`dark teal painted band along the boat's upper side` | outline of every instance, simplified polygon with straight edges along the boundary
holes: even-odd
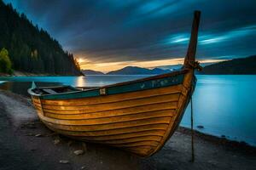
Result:
[[[131,82],[124,85],[112,86],[105,88],[106,95],[110,94],[125,94],[129,92],[136,92],[142,90],[148,90],[153,88],[164,88],[168,86],[174,86],[177,84],[183,83],[184,75],[180,74],[172,77],[164,77],[159,79],[147,80],[143,82]],[[87,90],[87,91],[79,91],[65,94],[48,94],[40,96],[40,99],[79,99],[79,98],[87,98],[87,97],[96,97],[100,96],[100,88]]]

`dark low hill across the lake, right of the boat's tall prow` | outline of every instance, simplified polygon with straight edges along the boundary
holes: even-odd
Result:
[[[231,59],[228,61],[219,62],[213,65],[207,65],[203,68],[199,74],[209,74],[209,75],[253,75],[256,74],[256,55]]]

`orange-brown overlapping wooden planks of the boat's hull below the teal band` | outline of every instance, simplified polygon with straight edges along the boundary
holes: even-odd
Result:
[[[151,156],[171,137],[183,116],[193,73],[182,77],[177,84],[124,94],[78,99],[32,96],[32,101],[39,118],[56,133]]]

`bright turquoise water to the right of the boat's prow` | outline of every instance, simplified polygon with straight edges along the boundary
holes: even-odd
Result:
[[[256,145],[256,76],[199,76],[195,89],[195,126]],[[190,126],[190,108],[182,125]]]

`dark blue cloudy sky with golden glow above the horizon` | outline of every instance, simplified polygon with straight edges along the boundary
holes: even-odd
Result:
[[[256,0],[4,2],[49,31],[84,68],[107,71],[125,65],[180,63],[195,9],[202,12],[197,59],[207,62],[256,54]]]

